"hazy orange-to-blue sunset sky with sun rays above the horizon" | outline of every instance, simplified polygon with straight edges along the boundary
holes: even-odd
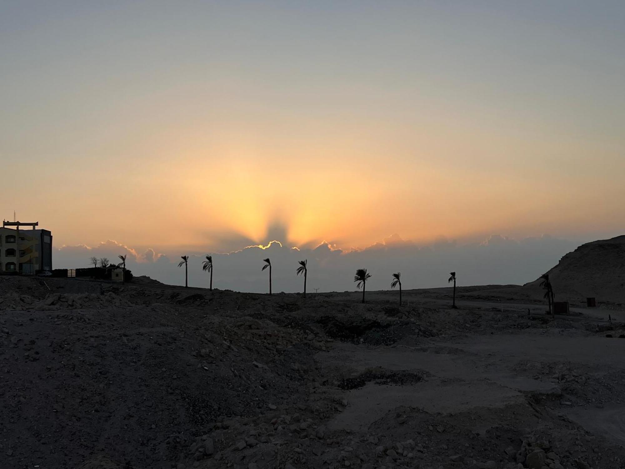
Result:
[[[249,256],[237,290],[294,247],[332,290],[446,245],[467,281],[530,281],[625,231],[623,51],[621,1],[0,0],[0,216],[59,267]]]

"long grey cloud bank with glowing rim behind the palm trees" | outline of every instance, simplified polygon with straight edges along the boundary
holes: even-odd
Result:
[[[277,240],[276,240],[277,241]],[[231,253],[204,253],[186,250],[190,256],[189,286],[208,285],[209,276],[201,270],[206,254],[212,254],[214,288],[264,293],[269,288],[268,272],[261,271],[262,259],[272,263],[274,292],[301,291],[303,278],[295,274],[297,261],[308,260],[308,291],[356,290],[353,282],[357,268],[372,274],[367,290],[388,290],[391,274],[402,273],[404,289],[447,286],[449,271],[456,271],[458,285],[522,284],[556,265],[567,252],[579,245],[576,241],[551,236],[513,240],[492,235],[481,243],[459,244],[453,240],[438,240],[429,245],[417,245],[399,235],[359,250],[341,250],[336,245],[297,248],[284,242],[247,246]],[[89,266],[91,256],[108,257],[117,261],[118,255],[128,255],[126,265],[134,275],[148,275],[163,283],[184,285],[184,270],[178,268],[179,255],[159,253],[152,248],[135,250],[108,240],[97,246],[61,246],[54,251],[55,268]]]

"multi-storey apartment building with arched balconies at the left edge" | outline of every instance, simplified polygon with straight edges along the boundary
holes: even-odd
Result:
[[[52,270],[52,233],[47,229],[37,229],[37,226],[37,221],[2,221],[0,273],[34,275],[39,271]]]

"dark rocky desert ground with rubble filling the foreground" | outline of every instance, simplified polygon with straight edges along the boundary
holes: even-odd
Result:
[[[0,277],[0,468],[625,467],[625,306]]]

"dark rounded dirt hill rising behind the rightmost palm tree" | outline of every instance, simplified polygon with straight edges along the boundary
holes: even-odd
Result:
[[[625,303],[625,235],[581,245],[547,273],[556,301],[579,304],[595,297],[597,301]],[[522,290],[542,296],[540,281],[527,283]]]

